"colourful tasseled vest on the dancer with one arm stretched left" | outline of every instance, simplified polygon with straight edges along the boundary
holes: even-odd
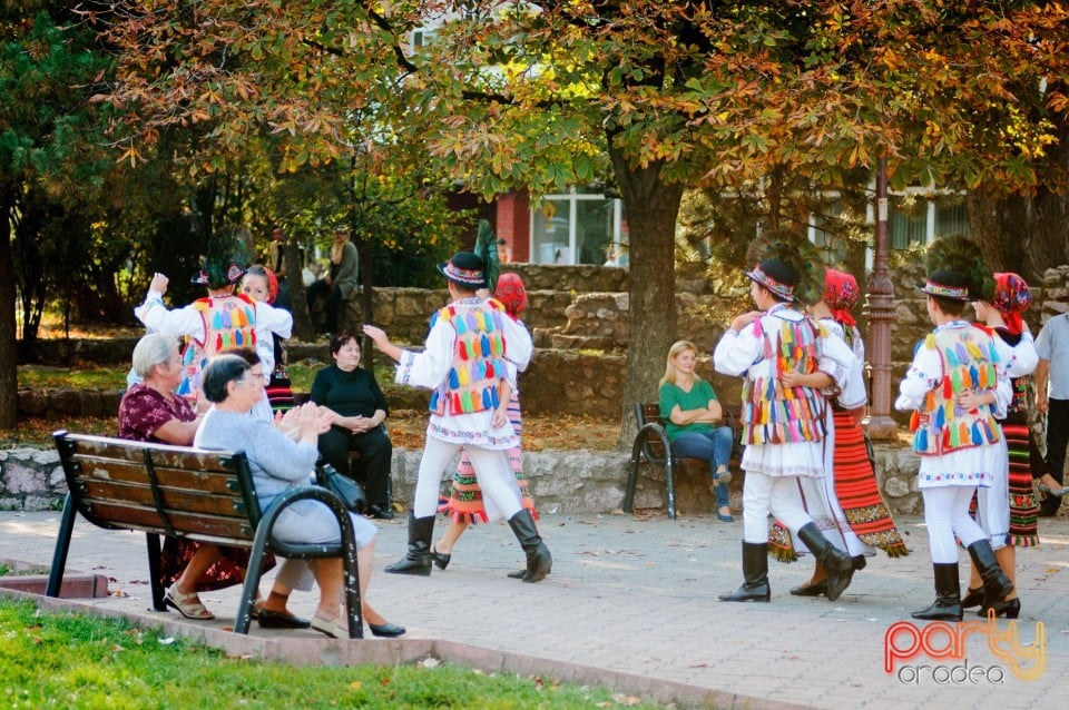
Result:
[[[506,376],[504,306],[486,303],[450,304],[435,314],[457,332],[449,377],[431,395],[430,411],[439,415],[472,414],[500,403],[498,383]],[[432,323],[433,327],[433,323]]]

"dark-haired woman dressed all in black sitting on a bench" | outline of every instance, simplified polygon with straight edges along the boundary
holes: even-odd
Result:
[[[334,413],[331,430],[320,435],[320,453],[326,463],[360,481],[367,495],[367,516],[393,519],[390,458],[393,444],[382,426],[386,398],[374,375],[359,367],[360,342],[349,332],[331,338],[334,364],[315,374],[312,402]],[[349,452],[360,453],[357,475],[350,466]]]

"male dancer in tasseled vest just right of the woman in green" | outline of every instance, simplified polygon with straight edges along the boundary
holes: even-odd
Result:
[[[824,269],[813,264],[794,266],[800,254],[797,243],[779,246],[756,243],[751,254],[766,258],[756,263],[746,276],[778,303],[739,332],[728,331],[713,353],[716,372],[745,377],[743,384],[743,453],[746,472],[743,484],[743,585],[722,601],[768,601],[768,531],[771,512],[814,552],[828,571],[828,598],[834,601],[850,584],[853,574],[849,555],[837,550],[821,533],[806,513],[798,495],[800,477],[824,475],[822,441],[824,407],[821,393],[811,387],[784,387],[786,372],[812,374],[817,369],[842,381],[852,365],[853,354],[840,342],[838,353],[825,352],[821,328],[788,307],[795,299],[800,275]],[[775,254],[776,256],[771,256]],[[804,278],[804,276],[803,276]],[[808,290],[808,289],[807,289]],[[823,289],[822,289],[823,290]],[[764,303],[764,294],[757,293]],[[755,296],[756,298],[757,296]]]

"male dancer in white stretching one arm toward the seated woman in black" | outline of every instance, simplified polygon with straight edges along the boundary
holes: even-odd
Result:
[[[475,292],[486,285],[484,268],[483,260],[470,252],[459,252],[438,267],[447,279],[451,302],[431,318],[431,332],[421,353],[401,349],[381,328],[364,326],[379,349],[398,362],[395,382],[433,391],[415,501],[409,515],[408,554],[386,566],[386,572],[431,573],[431,538],[442,473],[462,447],[468,451],[483,497],[509,521],[523,548],[523,581],[541,581],[553,564],[530,511],[509,484],[514,476],[506,456],[508,450],[520,445],[509,423],[508,404],[516,387],[514,367],[522,369],[530,361],[531,337],[527,328],[508,317],[499,300],[478,296]]]

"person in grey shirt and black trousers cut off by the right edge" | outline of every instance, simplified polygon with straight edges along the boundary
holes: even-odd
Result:
[[[1060,486],[1065,481],[1066,446],[1069,445],[1069,313],[1043,324],[1036,339],[1036,352],[1039,354],[1036,410],[1047,415],[1046,467]],[[1045,517],[1056,515],[1063,492],[1065,489],[1045,492],[1047,497],[1039,506],[1039,514]]]

